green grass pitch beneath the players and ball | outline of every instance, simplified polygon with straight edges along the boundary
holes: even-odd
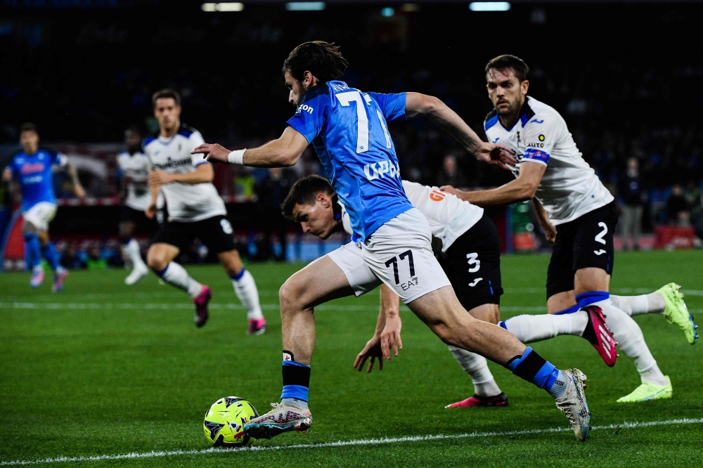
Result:
[[[503,318],[539,313],[547,263],[543,255],[503,257]],[[701,265],[700,251],[618,254],[611,290],[650,292],[678,282],[703,323]],[[544,431],[568,427],[546,392],[493,363],[491,370],[510,398],[508,408],[445,410],[447,403],[470,396],[470,379],[407,310],[401,313],[401,356],[386,362],[382,372],[352,369],[373,333],[377,292],[316,311],[314,424],[308,434],[255,444],[271,450],[207,451],[202,417],[217,398],[241,396],[266,412],[280,396],[278,287],[300,265],[248,268],[269,320],[269,332],[259,337],[245,336],[245,312],[219,266],[188,267],[214,290],[211,318],[201,330],[193,326],[188,297],[159,285],[154,275],[127,287],[127,271],[75,271],[65,290],[52,294],[49,277],[31,290],[28,273],[0,274],[0,466],[53,457],[87,457],[55,463],[66,467],[703,464],[703,343],[690,346],[661,316],[636,321],[671,376],[670,400],[615,403],[638,385],[634,365],[621,356],[607,368],[583,339],[559,337],[533,345],[557,367],[576,366],[589,377],[592,424],[601,429],[578,443],[570,431]],[[396,440],[412,436],[447,437]],[[380,438],[394,440],[380,443]],[[337,441],[370,443],[329,445]],[[300,445],[305,447],[281,448]],[[176,454],[143,455],[153,451]],[[127,453],[139,456],[89,458]]]

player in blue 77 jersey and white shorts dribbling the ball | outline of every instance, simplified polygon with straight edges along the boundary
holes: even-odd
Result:
[[[466,313],[432,254],[427,219],[405,195],[386,122],[427,115],[480,160],[503,164],[512,158],[501,147],[480,141],[439,99],[418,93],[362,93],[342,81],[346,68],[347,61],[332,44],[297,46],[283,64],[289,101],[296,107],[283,135],[255,149],[230,152],[221,145],[200,145],[193,152],[206,154],[208,160],[285,167],[295,164],[312,143],[349,213],[352,240],[366,269],[359,278],[381,280],[446,344],[501,363],[548,391],[567,414],[576,438],[585,441],[591,417],[583,394],[586,377],[575,369],[557,370],[509,332]],[[247,423],[247,434],[271,438],[310,427],[314,306],[351,296],[359,286],[349,282],[330,256],[323,256],[280,288],[283,393],[280,403],[272,403],[273,410]]]

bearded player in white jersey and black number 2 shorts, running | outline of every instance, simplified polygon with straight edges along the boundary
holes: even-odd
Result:
[[[683,295],[673,283],[647,296],[609,294],[617,223],[614,197],[583,160],[562,116],[527,96],[528,70],[520,58],[508,55],[486,65],[486,87],[494,110],[486,117],[484,129],[489,141],[515,151],[518,164],[510,168],[515,181],[493,190],[465,193],[451,186],[442,190],[479,206],[533,200],[547,239],[554,243],[547,271],[548,312],[571,314],[586,306],[600,307],[620,349],[635,361],[642,379],[637,389],[618,402],[671,398],[671,380],[659,370],[630,315],[662,313],[681,327],[693,344],[695,326]],[[583,320],[579,324],[587,326]],[[552,337],[558,331],[526,329],[520,317],[502,325],[534,340]]]

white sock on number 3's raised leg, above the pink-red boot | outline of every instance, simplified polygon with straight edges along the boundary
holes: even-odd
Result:
[[[575,334],[579,337],[588,325],[588,313],[577,311],[555,316],[550,313],[541,316],[517,316],[505,320],[505,329],[523,343],[539,342],[557,337],[560,334]]]

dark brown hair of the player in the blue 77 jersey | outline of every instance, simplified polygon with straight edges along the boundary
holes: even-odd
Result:
[[[281,72],[302,81],[303,73],[311,72],[321,83],[344,80],[344,72],[349,63],[342,57],[335,43],[325,41],[304,42],[294,48],[283,61]]]

